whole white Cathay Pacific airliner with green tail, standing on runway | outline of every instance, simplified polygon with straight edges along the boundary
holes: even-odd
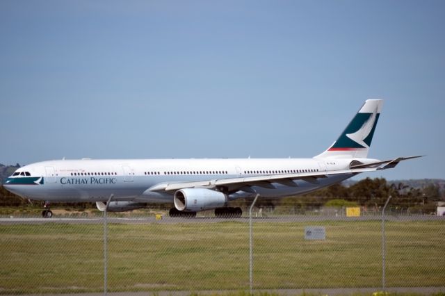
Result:
[[[147,203],[171,203],[171,217],[241,217],[236,199],[301,195],[363,172],[396,167],[401,161],[368,158],[383,101],[368,99],[339,138],[313,158],[116,159],[43,161],[25,165],[3,186],[25,199],[95,202],[99,211],[131,211]]]

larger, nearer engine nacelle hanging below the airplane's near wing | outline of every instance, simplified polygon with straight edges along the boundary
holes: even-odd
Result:
[[[185,188],[175,192],[174,202],[179,211],[205,211],[226,206],[227,195],[205,188]]]

